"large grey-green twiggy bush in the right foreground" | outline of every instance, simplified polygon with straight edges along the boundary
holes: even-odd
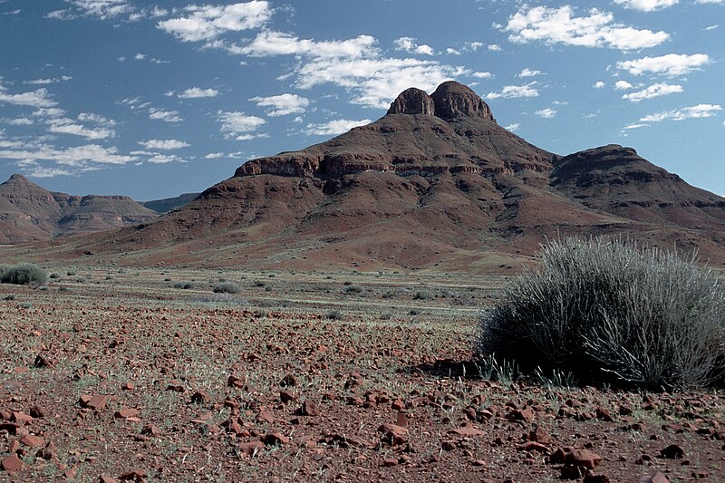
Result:
[[[633,241],[549,242],[480,321],[478,357],[582,383],[704,387],[725,365],[725,291],[676,253]]]

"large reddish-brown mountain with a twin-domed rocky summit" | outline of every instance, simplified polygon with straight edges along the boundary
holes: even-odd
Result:
[[[67,256],[326,269],[495,270],[546,237],[623,235],[725,262],[725,199],[629,148],[559,156],[500,127],[458,82],[411,88],[369,125],[253,159],[158,220]],[[57,249],[53,248],[53,249]]]

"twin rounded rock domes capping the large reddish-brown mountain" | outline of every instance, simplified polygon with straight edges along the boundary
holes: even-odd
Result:
[[[476,92],[454,81],[443,82],[431,95],[415,87],[406,89],[392,101],[388,114],[427,114],[445,121],[457,116],[496,121]]]

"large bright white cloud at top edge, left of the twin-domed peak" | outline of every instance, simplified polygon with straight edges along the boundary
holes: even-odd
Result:
[[[182,42],[212,41],[227,32],[259,28],[272,16],[269,2],[258,0],[231,5],[189,5],[184,10],[188,16],[157,24]]]

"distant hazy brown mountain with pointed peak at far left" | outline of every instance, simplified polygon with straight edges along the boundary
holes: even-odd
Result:
[[[19,174],[0,184],[3,244],[126,227],[158,216],[128,197],[53,193]]]

